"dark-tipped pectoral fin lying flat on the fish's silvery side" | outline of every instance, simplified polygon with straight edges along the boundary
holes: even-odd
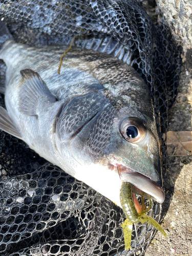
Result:
[[[40,96],[47,97],[47,102],[55,102],[57,99],[37,72],[24,69],[20,74],[23,81],[19,92],[19,111],[28,116],[37,116],[36,105]]]

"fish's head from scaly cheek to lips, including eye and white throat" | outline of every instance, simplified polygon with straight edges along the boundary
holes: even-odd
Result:
[[[133,114],[133,113],[132,113]],[[162,203],[160,144],[153,117],[128,115],[106,104],[70,142],[80,164],[75,177],[120,206],[122,181]]]

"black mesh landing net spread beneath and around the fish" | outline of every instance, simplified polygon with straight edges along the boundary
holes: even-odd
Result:
[[[0,0],[0,18],[18,42],[74,45],[131,63],[151,88],[165,165],[168,110],[177,95],[180,51],[168,28],[141,5],[123,0]],[[1,28],[0,28],[1,29]],[[131,54],[130,54],[131,53]],[[0,62],[0,85],[6,67]],[[0,104],[4,105],[3,95]],[[124,250],[122,209],[0,132],[0,254],[14,256],[141,255],[154,228],[134,225]],[[165,169],[165,168],[164,168]],[[149,215],[160,219],[153,202]]]

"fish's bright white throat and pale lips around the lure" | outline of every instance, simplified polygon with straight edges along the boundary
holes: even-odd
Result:
[[[108,162],[108,165],[103,164],[89,164],[79,165],[75,178],[83,180],[101,195],[113,201],[122,208],[120,203],[120,187],[122,182],[129,182],[133,184],[133,192],[138,195],[143,195],[148,199],[154,199],[159,203],[164,201],[164,192],[160,186],[151,181],[148,177],[141,175],[133,170],[127,168],[127,172],[121,173],[121,168]]]

